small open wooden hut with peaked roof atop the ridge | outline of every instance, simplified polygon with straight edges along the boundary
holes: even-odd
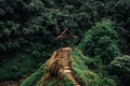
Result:
[[[61,40],[62,41],[62,44],[63,44],[63,40],[66,40],[66,39],[77,39],[77,37],[67,28],[65,29],[64,31],[61,32],[61,34],[56,38],[57,40]],[[72,41],[72,46],[74,45],[74,41]]]

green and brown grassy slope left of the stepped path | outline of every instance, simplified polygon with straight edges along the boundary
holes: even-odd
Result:
[[[58,72],[62,68],[61,58],[55,59],[56,54],[42,64],[34,74],[25,80],[21,86],[74,86],[68,77]]]

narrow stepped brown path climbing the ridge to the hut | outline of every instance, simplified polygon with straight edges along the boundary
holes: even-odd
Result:
[[[70,47],[62,48],[62,56],[63,56],[63,63],[64,63],[64,73],[74,82],[75,86],[81,86],[78,81],[73,75],[72,67],[69,64],[69,55],[70,55]]]

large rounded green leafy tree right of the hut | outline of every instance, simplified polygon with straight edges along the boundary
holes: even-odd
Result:
[[[117,41],[117,32],[110,20],[98,23],[86,32],[84,38],[78,45],[90,57],[100,56],[106,62],[120,55]]]

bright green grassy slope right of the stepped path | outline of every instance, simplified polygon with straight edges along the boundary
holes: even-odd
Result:
[[[102,74],[103,71],[96,73],[88,68],[87,64],[91,64],[94,60],[82,55],[81,51],[75,48],[70,59],[74,75],[81,86],[116,86],[115,80]]]

